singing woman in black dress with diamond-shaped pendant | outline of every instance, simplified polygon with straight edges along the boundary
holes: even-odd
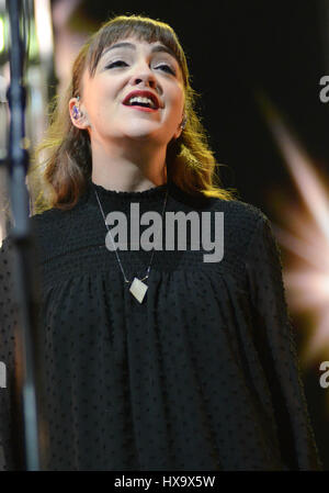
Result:
[[[31,221],[49,470],[321,468],[270,222],[215,181],[194,97],[172,29],[118,16],[80,51],[41,146],[50,195]],[[220,213],[224,256],[204,261],[206,248],[189,238],[183,249],[131,240],[111,250],[117,238],[106,215],[124,213],[136,226],[132,204],[161,220],[212,213],[212,238]],[[7,267],[9,238],[1,255]],[[3,276],[8,301],[9,284]],[[0,310],[0,359],[14,374],[11,304]]]

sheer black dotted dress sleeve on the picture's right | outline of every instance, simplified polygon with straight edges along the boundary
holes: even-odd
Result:
[[[285,299],[281,251],[262,213],[247,250],[256,344],[270,385],[282,458],[290,470],[322,470]]]

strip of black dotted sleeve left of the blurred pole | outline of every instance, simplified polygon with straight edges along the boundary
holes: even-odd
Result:
[[[0,361],[2,371],[3,367],[5,368],[5,381],[3,382],[2,378],[0,386],[0,471],[14,469],[12,400],[14,396],[15,310],[12,253],[12,243],[7,237],[0,248]]]

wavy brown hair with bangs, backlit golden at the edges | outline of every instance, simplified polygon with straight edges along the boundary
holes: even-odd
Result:
[[[152,43],[161,42],[172,49],[180,64],[185,92],[186,125],[178,139],[172,139],[167,147],[168,180],[188,193],[203,193],[223,200],[232,200],[235,189],[223,189],[214,154],[207,142],[206,131],[196,114],[195,101],[200,94],[190,85],[186,58],[182,46],[168,24],[140,15],[118,15],[104,23],[80,49],[72,67],[72,78],[61,101],[56,98],[50,110],[50,123],[46,137],[37,146],[34,165],[29,172],[43,167],[41,189],[34,201],[34,212],[46,209],[71,209],[84,191],[87,180],[91,177],[91,146],[87,130],[72,125],[68,102],[81,90],[81,79],[86,67],[90,76],[94,75],[99,59],[107,46],[131,35]],[[41,159],[42,154],[44,159]],[[33,178],[32,178],[33,180]],[[34,182],[36,184],[37,180]],[[44,190],[48,189],[48,197]]]

